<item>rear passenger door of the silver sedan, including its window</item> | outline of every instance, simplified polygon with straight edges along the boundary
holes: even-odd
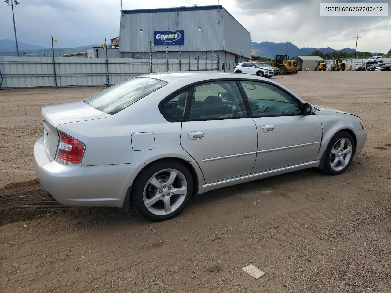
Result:
[[[180,143],[199,164],[206,183],[250,174],[256,158],[256,126],[235,81],[193,87]]]

